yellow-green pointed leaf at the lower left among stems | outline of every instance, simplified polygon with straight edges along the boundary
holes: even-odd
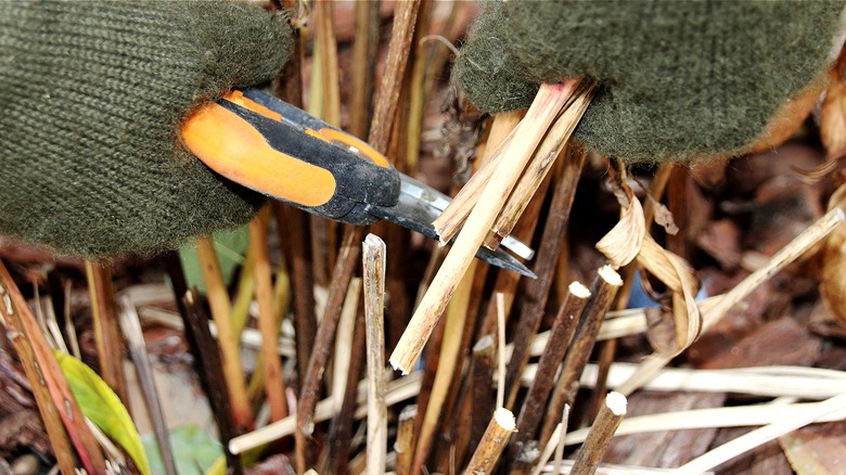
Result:
[[[129,454],[142,475],[150,475],[141,437],[120,398],[86,363],[59,351],[55,356],[82,414]]]

